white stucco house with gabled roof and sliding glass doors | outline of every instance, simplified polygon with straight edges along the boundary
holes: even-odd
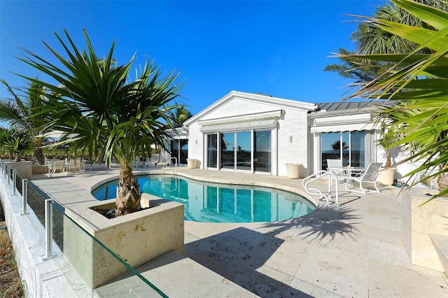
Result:
[[[365,167],[385,162],[367,101],[310,104],[265,94],[232,91],[183,123],[171,155],[200,169],[286,176],[286,164],[302,164],[300,176],[326,169],[326,159]],[[399,155],[394,156],[399,159]],[[409,171],[398,169],[397,178]]]

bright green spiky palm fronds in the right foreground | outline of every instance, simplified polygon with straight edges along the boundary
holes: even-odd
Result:
[[[404,54],[344,55],[344,58],[388,62],[391,67],[349,97],[366,99],[393,99],[398,104],[384,107],[377,115],[386,122],[385,136],[395,141],[391,146],[404,146],[409,156],[403,162],[421,162],[421,166],[408,173],[433,171],[438,176],[440,192],[434,197],[448,194],[448,13],[410,0],[391,0],[395,5],[421,20],[425,26],[411,26],[374,17],[361,17],[390,34],[416,43],[414,50]],[[430,53],[421,53],[423,48]],[[400,134],[387,127],[398,128]],[[416,181],[419,183],[421,181]]]

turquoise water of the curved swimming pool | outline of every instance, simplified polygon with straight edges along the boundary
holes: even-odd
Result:
[[[185,220],[195,222],[271,222],[288,220],[316,208],[304,197],[269,187],[205,183],[179,176],[137,176],[140,191],[184,204]],[[92,194],[103,201],[116,198],[118,180]]]

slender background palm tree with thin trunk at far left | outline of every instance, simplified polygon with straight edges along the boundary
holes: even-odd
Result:
[[[37,78],[36,78],[37,80]],[[45,94],[45,87],[35,82],[29,83],[23,96],[14,92],[13,87],[5,80],[0,80],[13,98],[0,101],[0,120],[8,122],[11,129],[27,132],[34,143],[34,158],[38,164],[43,164],[41,138],[38,138],[38,127],[46,119],[45,114],[32,115],[34,108],[40,108]]]

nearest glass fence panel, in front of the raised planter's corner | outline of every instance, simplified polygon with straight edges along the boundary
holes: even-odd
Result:
[[[52,201],[53,240],[64,254],[60,265],[73,288],[99,297],[167,297],[153,283],[71,219]],[[59,244],[61,243],[61,244]],[[83,283],[81,282],[83,281]]]

